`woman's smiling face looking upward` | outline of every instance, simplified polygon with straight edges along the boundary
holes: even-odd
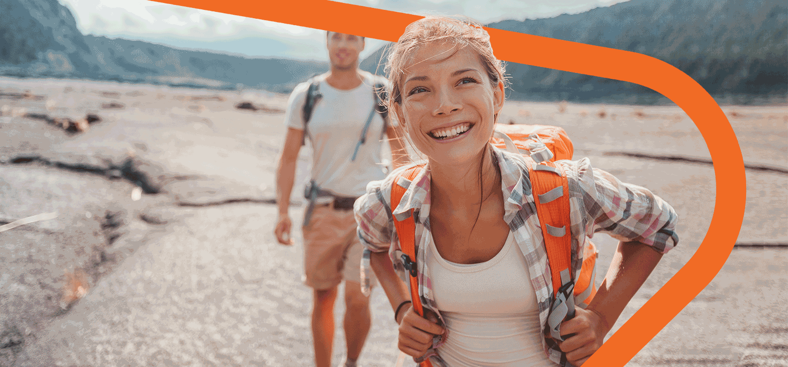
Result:
[[[504,106],[504,83],[492,85],[472,48],[445,43],[419,46],[403,70],[395,109],[416,148],[441,165],[478,160]]]

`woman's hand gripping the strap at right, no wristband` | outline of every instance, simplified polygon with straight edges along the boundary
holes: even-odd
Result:
[[[609,331],[610,327],[600,313],[574,306],[574,318],[561,323],[561,335],[574,335],[558,342],[558,345],[567,354],[567,361],[579,366],[602,347],[604,335]]]

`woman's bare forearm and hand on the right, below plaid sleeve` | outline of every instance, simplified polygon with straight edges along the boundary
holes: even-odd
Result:
[[[575,306],[575,317],[561,324],[561,332],[574,334],[559,342],[568,361],[582,365],[602,346],[605,335],[661,258],[662,254],[642,243],[619,243],[591,304],[585,310]]]

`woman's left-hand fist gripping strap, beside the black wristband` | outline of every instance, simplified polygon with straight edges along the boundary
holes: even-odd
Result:
[[[433,337],[443,334],[444,328],[438,325],[438,317],[430,310],[424,310],[425,317],[418,316],[413,306],[400,312],[400,338],[397,347],[403,353],[419,358],[433,346]]]

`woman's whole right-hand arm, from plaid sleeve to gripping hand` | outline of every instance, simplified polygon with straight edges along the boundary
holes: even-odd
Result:
[[[571,162],[577,174],[578,209],[584,213],[585,233],[604,232],[622,241],[611,261],[604,283],[585,310],[561,324],[563,335],[575,334],[560,343],[567,359],[582,365],[604,341],[626,304],[649,277],[662,254],[678,244],[675,210],[644,187],[623,183],[587,158]],[[571,186],[570,186],[571,187]],[[570,199],[572,200],[572,198]],[[564,328],[566,325],[566,329]]]

